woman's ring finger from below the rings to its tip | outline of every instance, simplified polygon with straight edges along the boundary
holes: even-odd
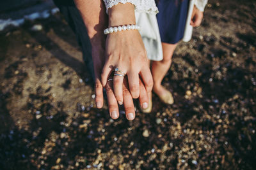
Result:
[[[123,104],[123,81],[124,77],[115,75],[113,78],[113,89],[118,104]]]

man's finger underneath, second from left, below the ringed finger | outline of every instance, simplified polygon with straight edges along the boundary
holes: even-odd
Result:
[[[110,114],[110,117],[113,118],[113,119],[116,119],[119,117],[119,111],[118,111],[118,104],[117,104],[117,101],[116,101],[116,97],[115,97],[115,94],[113,92],[113,85],[112,85],[112,80],[111,81],[108,81],[106,83],[106,94],[107,94],[107,97],[108,97],[108,109],[109,109],[109,114]]]

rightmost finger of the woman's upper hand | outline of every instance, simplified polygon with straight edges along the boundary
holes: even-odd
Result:
[[[152,78],[152,74],[150,72],[149,67],[145,69],[141,69],[140,76],[143,80],[143,83],[147,92],[151,92],[154,83],[153,83],[153,78]]]

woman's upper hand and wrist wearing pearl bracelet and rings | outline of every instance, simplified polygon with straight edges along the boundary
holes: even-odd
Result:
[[[109,9],[109,27],[135,24],[134,6],[117,4]],[[153,80],[148,66],[147,52],[137,30],[120,31],[108,34],[106,39],[106,59],[101,81],[105,86],[109,75],[118,67],[127,74],[129,91],[133,98],[140,96],[140,78],[147,92],[152,90]],[[123,103],[122,84],[124,77],[114,76],[113,92],[119,104]]]

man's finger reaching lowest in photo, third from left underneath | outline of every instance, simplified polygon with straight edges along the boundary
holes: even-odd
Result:
[[[125,115],[128,120],[134,120],[135,118],[134,104],[133,104],[132,96],[128,86],[129,85],[127,82],[127,78],[124,78],[123,94],[124,94]]]

